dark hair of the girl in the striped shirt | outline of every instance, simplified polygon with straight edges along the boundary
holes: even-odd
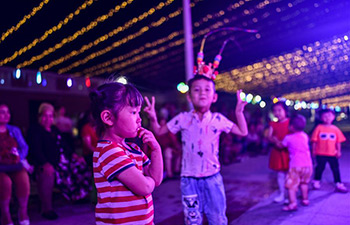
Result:
[[[91,100],[91,112],[96,123],[97,134],[106,130],[101,120],[103,110],[111,110],[115,117],[125,106],[141,106],[143,97],[141,93],[131,84],[106,83],[99,86],[89,94]]]

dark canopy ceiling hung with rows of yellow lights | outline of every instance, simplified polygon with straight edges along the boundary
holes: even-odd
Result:
[[[346,66],[349,62],[344,59],[349,51],[350,1],[192,0],[191,3],[195,54],[204,34],[215,28],[258,30],[257,34],[218,32],[208,38],[204,47],[206,62],[213,61],[226,39],[234,39],[223,52],[218,77],[221,83],[232,82],[232,87],[223,86],[222,90],[242,88],[256,94],[283,95],[350,81]],[[0,65],[43,73],[52,71],[63,76],[120,74],[142,90],[175,89],[179,82],[185,81],[181,7],[181,0],[6,1],[0,8]],[[338,38],[341,43],[336,43]],[[337,49],[327,47],[328,42],[337,45]],[[262,69],[266,70],[269,64],[267,69],[272,70],[274,59],[280,59],[286,68],[288,54],[303,58],[306,53],[314,53],[318,57],[313,50],[321,51],[321,47],[338,57],[326,57],[320,65],[317,64],[320,60],[302,65],[304,71],[297,62],[289,63],[289,67],[295,66],[292,71],[300,69],[295,72],[299,73],[298,79],[289,77],[289,73],[286,76],[276,67],[277,72],[269,71],[276,77],[275,81],[263,85],[268,75]],[[335,69],[329,69],[334,66],[330,60],[339,61],[339,57],[343,58],[337,62],[341,66],[336,64]],[[322,69],[325,63],[328,70]],[[317,66],[321,67],[317,69]],[[312,70],[311,78],[309,70]],[[260,83],[258,73],[262,74]],[[303,76],[309,81],[301,82]]]

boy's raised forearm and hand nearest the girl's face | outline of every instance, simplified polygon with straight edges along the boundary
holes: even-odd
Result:
[[[145,101],[146,101],[146,107],[143,109],[143,111],[147,114],[149,120],[150,120],[150,124],[151,124],[151,130],[157,135],[163,135],[166,134],[167,132],[169,132],[169,129],[167,127],[167,125],[159,125],[158,123],[158,119],[157,119],[157,113],[155,110],[155,98],[154,96],[152,96],[152,102],[149,101],[148,97],[145,97]]]

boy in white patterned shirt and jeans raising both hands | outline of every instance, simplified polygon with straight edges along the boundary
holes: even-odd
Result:
[[[236,125],[222,114],[210,111],[211,104],[217,100],[212,79],[196,75],[188,81],[188,86],[187,97],[194,110],[178,114],[163,126],[157,121],[154,97],[151,102],[145,98],[147,107],[144,111],[157,135],[181,131],[181,192],[185,224],[202,224],[203,213],[209,224],[227,224],[226,197],[218,159],[219,137],[221,132],[247,135],[243,115],[247,103],[240,98],[241,90],[237,91]]]

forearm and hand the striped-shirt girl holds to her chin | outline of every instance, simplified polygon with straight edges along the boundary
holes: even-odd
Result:
[[[151,131],[140,128],[139,137],[150,148],[151,164],[145,167],[145,174],[153,178],[155,186],[159,186],[163,180],[162,149]]]

